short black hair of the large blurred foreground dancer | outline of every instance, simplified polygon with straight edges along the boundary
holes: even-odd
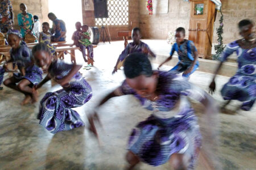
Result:
[[[125,59],[124,64],[126,78],[132,79],[139,75],[147,77],[153,74],[151,63],[148,57],[142,53],[131,53]]]

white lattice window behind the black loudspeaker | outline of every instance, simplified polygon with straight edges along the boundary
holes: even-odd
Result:
[[[109,18],[96,18],[96,25],[128,25],[129,2],[128,0],[108,0]]]

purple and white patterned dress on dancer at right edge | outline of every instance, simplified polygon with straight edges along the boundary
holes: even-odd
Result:
[[[237,73],[222,87],[221,95],[224,100],[242,101],[241,109],[249,111],[256,99],[256,48],[243,49],[237,41],[231,42],[226,45],[220,61],[226,61],[233,52],[238,56]]]

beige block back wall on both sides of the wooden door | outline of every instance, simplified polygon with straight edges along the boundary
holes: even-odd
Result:
[[[139,0],[141,10],[146,10],[146,0]],[[249,18],[256,22],[255,0],[225,0],[222,1],[224,15],[224,43],[240,39],[237,23]],[[169,31],[177,27],[184,27],[188,33],[190,3],[183,0],[169,0],[168,14],[140,15],[139,27],[143,30],[143,37],[148,39],[167,39]],[[143,12],[140,12],[143,14]],[[216,28],[220,14],[217,14],[214,28],[214,42],[217,41]],[[188,36],[188,35],[187,35]]]

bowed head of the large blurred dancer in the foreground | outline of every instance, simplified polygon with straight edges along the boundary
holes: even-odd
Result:
[[[142,97],[150,97],[156,91],[158,73],[152,71],[148,57],[142,53],[132,53],[124,64],[127,84]]]

